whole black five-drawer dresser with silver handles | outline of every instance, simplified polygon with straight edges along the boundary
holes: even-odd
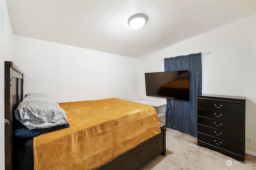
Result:
[[[245,160],[246,97],[197,95],[198,146]]]

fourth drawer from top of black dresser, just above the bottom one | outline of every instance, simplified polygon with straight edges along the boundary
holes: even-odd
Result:
[[[204,125],[198,125],[197,131],[200,133],[208,134],[210,136],[224,139],[236,144],[244,145],[244,136],[241,134],[231,133],[225,130],[207,127]]]

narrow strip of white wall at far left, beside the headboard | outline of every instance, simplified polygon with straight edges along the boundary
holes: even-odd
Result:
[[[4,169],[4,61],[12,60],[13,34],[5,1],[0,1],[0,170]]]

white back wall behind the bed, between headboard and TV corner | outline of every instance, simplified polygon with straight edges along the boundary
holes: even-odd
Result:
[[[139,97],[140,59],[14,36],[14,63],[24,71],[24,94],[59,102]]]

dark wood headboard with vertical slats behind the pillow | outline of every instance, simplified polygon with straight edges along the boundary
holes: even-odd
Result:
[[[13,129],[18,123],[14,117],[14,110],[23,99],[23,75],[24,73],[13,62],[4,61],[5,170],[13,169]]]

